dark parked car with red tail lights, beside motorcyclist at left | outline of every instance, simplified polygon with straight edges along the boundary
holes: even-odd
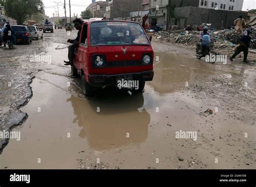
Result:
[[[29,45],[32,42],[32,37],[30,35],[30,31],[27,26],[15,25],[15,26],[11,26],[11,27],[15,31],[17,43],[25,42],[26,44]]]

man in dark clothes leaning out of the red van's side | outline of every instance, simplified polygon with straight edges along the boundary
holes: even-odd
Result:
[[[69,66],[69,65],[73,64],[73,57],[74,57],[75,49],[78,48],[78,42],[79,42],[83,22],[84,21],[80,18],[76,18],[75,20],[73,20],[73,24],[75,25],[76,30],[78,30],[78,33],[77,33],[76,39],[74,39],[74,40],[68,39],[68,43],[70,43],[72,45],[69,46],[69,54],[68,54],[69,61],[64,60],[65,66]]]

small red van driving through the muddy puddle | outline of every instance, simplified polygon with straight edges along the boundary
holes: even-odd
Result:
[[[138,91],[143,91],[145,81],[153,79],[153,58],[150,39],[139,23],[86,20],[71,72],[82,78],[85,96],[120,80],[137,81]]]

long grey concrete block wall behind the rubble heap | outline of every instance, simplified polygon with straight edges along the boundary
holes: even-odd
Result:
[[[187,6],[183,8],[176,8],[174,10],[175,16],[178,19],[178,25],[180,20],[185,19],[185,25],[197,25],[202,23],[211,23],[212,27],[221,29],[221,27],[229,27],[233,25],[235,19],[240,15],[245,19],[247,18],[247,12],[244,11],[224,11],[197,8]]]

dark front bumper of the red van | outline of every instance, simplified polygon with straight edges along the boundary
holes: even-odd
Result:
[[[152,81],[154,77],[154,71],[144,71],[137,73],[125,73],[125,74],[113,74],[113,75],[102,75],[102,74],[89,74],[88,83],[93,87],[102,87],[116,85],[118,78],[132,78],[132,80],[145,80]]]

